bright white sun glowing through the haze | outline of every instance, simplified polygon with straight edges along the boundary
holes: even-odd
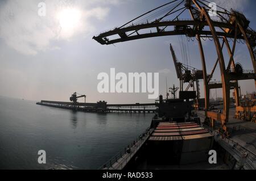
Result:
[[[72,35],[79,27],[81,11],[78,9],[63,9],[57,14],[61,32],[65,35]]]

